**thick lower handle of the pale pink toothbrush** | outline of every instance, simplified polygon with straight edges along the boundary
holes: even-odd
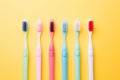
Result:
[[[41,50],[37,49],[36,54],[36,80],[41,80]]]

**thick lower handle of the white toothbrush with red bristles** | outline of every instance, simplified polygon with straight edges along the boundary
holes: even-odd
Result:
[[[92,50],[89,50],[88,52],[88,66],[89,66],[89,80],[93,80],[94,74],[93,74],[93,52]]]

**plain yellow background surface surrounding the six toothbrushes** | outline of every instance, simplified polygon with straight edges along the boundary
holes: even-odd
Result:
[[[91,17],[95,80],[120,80],[120,0],[1,0],[0,1],[0,80],[22,80],[22,20],[28,19],[29,80],[36,79],[36,21],[43,21],[42,80],[49,80],[49,21],[55,20],[55,80],[62,80],[61,21],[68,21],[68,77],[75,80],[73,24],[81,20],[81,80],[88,80],[88,33],[86,22]]]

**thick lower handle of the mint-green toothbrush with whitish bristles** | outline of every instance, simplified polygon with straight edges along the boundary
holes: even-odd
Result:
[[[80,80],[80,51],[75,52],[76,80]]]

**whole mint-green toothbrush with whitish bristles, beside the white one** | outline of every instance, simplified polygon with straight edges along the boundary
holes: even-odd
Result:
[[[80,80],[80,46],[79,46],[79,33],[80,33],[80,21],[75,21],[76,32],[76,46],[75,46],[75,65],[76,65],[76,80]]]

